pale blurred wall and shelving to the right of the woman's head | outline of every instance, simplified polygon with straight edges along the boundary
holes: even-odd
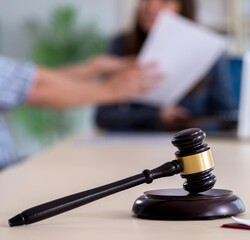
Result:
[[[200,22],[228,35],[231,54],[249,51],[249,0],[197,0],[197,3]]]

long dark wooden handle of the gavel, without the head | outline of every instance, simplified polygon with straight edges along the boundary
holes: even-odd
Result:
[[[55,215],[64,213],[82,205],[88,204],[111,194],[138,186],[142,183],[152,183],[154,179],[172,176],[182,171],[176,160],[167,162],[153,170],[144,170],[142,173],[123,180],[59,198],[32,208],[16,215],[9,220],[9,225],[20,226],[35,223]]]

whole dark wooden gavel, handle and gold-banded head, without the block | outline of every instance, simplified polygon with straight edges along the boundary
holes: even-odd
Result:
[[[146,169],[140,174],[114,183],[29,208],[11,218],[9,226],[32,224],[111,194],[143,183],[150,184],[155,179],[175,174],[180,174],[185,179],[183,188],[191,195],[207,191],[214,186],[216,177],[212,174],[214,162],[209,146],[204,143],[205,137],[204,131],[198,128],[178,132],[172,139],[172,144],[178,148],[178,151],[175,152],[175,160],[164,163],[153,170]]]

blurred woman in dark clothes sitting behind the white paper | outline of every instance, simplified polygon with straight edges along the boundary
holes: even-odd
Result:
[[[134,29],[115,38],[110,44],[109,53],[118,56],[137,55],[155,19],[164,10],[195,20],[193,0],[140,0]],[[97,110],[97,125],[110,131],[164,131],[197,126],[197,118],[234,107],[229,86],[223,81],[229,77],[225,69],[226,62],[219,61],[175,106],[157,108],[134,102],[101,106]]]

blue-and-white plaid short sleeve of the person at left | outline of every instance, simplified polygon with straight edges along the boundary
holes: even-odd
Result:
[[[32,86],[35,66],[0,56],[0,110],[22,104]]]

